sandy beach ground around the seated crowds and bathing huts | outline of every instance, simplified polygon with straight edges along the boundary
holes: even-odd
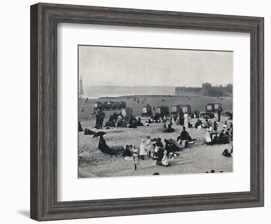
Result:
[[[162,102],[162,98],[165,102]],[[140,116],[141,107],[145,104],[150,104],[152,107],[160,105],[170,107],[171,105],[179,104],[180,100],[182,104],[189,103],[192,110],[203,112],[206,103],[222,102],[224,110],[226,108],[227,111],[232,111],[232,98],[230,97],[225,97],[223,100],[216,97],[198,97],[189,100],[187,97],[146,97],[145,99],[145,96],[143,96],[139,97],[139,104],[135,102],[133,98],[127,99],[127,97],[119,97],[111,100],[126,101],[127,107],[132,107],[133,114],[136,116]],[[89,128],[93,131],[98,131],[93,128],[95,126],[95,115],[90,115],[96,101],[102,102],[106,101],[106,99],[89,99],[87,103],[85,99],[79,99],[78,102],[78,118],[83,128]],[[197,108],[194,105],[197,105]],[[84,108],[84,112],[81,112],[82,107]],[[108,120],[109,114],[113,112],[114,111],[105,111],[104,123]],[[148,118],[142,117],[143,124],[146,119]],[[212,119],[212,121],[214,120],[217,120],[217,117]],[[218,132],[221,131],[225,120],[227,120],[228,123],[232,122],[232,120],[228,120],[227,117],[222,116],[221,122],[218,122]],[[193,118],[189,121],[194,127],[197,119]],[[212,169],[216,172],[219,170],[223,170],[224,172],[233,171],[233,158],[222,156],[224,149],[231,149],[232,142],[222,145],[205,145],[203,144],[205,130],[195,128],[189,128],[187,131],[193,139],[197,140],[195,140],[193,144],[190,144],[188,148],[183,148],[184,146],[182,145],[181,148],[183,148],[183,151],[179,152],[179,156],[176,159],[169,160],[170,166],[167,168],[157,166],[155,160],[146,158],[143,161],[139,160],[138,168],[134,170],[133,162],[122,158],[121,148],[124,145],[132,144],[138,148],[141,140],[146,139],[147,135],[150,135],[151,138],[160,137],[162,141],[164,141],[164,139],[173,139],[176,142],[177,135],[182,131],[182,126],[173,124],[173,128],[175,132],[164,133],[162,131],[163,123],[152,123],[150,126],[137,127],[135,129],[115,127],[109,130],[103,130],[106,132],[104,139],[107,145],[119,152],[116,156],[105,155],[98,149],[99,138],[93,139],[92,136],[84,135],[83,132],[79,132],[79,178],[152,175],[155,172],[158,172],[160,175],[205,173],[206,171],[210,172]]]

